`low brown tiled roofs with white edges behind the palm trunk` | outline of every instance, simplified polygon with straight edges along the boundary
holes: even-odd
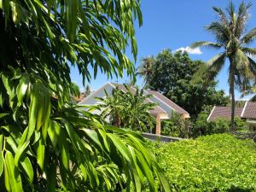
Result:
[[[256,102],[246,102],[243,108],[235,108],[235,116],[247,121],[249,130],[256,131]],[[207,120],[231,118],[231,107],[214,106]]]

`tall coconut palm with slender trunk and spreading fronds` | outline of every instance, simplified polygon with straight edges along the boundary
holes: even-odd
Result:
[[[208,32],[213,34],[216,43],[201,41],[191,45],[191,48],[205,46],[222,50],[197,73],[197,75],[204,75],[207,81],[216,77],[221,68],[224,67],[226,58],[229,60],[229,84],[232,104],[230,131],[235,130],[235,89],[245,92],[251,87],[256,77],[256,63],[250,57],[256,55],[256,49],[247,47],[256,38],[256,28],[244,34],[249,17],[248,9],[251,6],[252,3],[242,2],[237,13],[232,2],[226,8],[226,13],[222,9],[213,7],[219,19],[213,21],[206,28]]]

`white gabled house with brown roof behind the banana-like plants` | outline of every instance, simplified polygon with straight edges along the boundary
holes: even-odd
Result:
[[[136,88],[130,87],[132,93],[136,93]],[[79,105],[96,105],[100,102],[96,100],[96,97],[105,97],[105,91],[108,95],[112,94],[113,89],[119,89],[126,91],[125,86],[123,84],[116,83],[106,83],[100,89],[94,91],[89,96],[85,97]],[[175,102],[172,102],[166,96],[160,94],[160,92],[155,90],[143,90],[144,95],[152,95],[152,97],[148,98],[146,102],[154,102],[157,106],[150,110],[150,113],[156,118],[156,134],[160,135],[160,123],[161,119],[169,119],[173,112],[180,113],[183,118],[189,118],[189,113],[185,111],[183,108],[179,107]],[[95,113],[100,113],[100,111],[96,111]]]

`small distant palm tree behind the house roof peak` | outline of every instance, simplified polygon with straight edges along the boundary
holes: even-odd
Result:
[[[154,56],[146,56],[143,57],[141,60],[141,65],[140,67],[137,68],[137,75],[140,77],[143,77],[144,79],[144,88],[148,87],[150,75],[152,74],[152,67],[154,65]]]

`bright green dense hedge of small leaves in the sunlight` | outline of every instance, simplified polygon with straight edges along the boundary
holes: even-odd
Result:
[[[256,190],[256,145],[253,141],[218,134],[149,145],[173,191]]]

